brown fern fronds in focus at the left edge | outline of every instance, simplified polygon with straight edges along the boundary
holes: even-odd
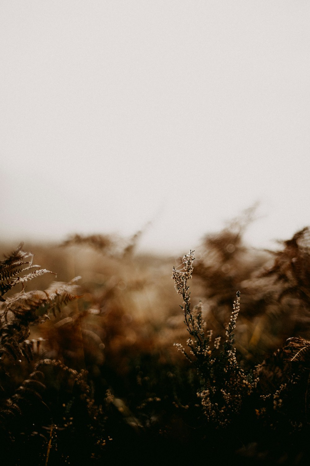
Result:
[[[46,269],[36,269],[26,273],[30,268],[40,267],[32,265],[33,254],[21,250],[22,244],[0,262],[0,370],[6,372],[4,356],[9,359],[28,361],[33,358],[34,347],[39,350],[42,338],[27,340],[30,325],[37,325],[49,318],[49,314],[56,315],[61,307],[79,298],[74,278],[69,283],[54,282],[45,291],[28,291],[22,289],[19,293],[4,299],[3,296],[18,283],[32,280],[47,272]],[[31,260],[25,260],[26,258]],[[27,267],[25,267],[27,266]]]

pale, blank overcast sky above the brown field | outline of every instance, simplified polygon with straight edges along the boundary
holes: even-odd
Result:
[[[1,0],[0,238],[310,224],[308,0]],[[1,241],[0,241],[1,242]]]

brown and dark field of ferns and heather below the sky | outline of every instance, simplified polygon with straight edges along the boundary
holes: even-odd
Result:
[[[183,257],[2,243],[3,464],[308,464],[310,230],[256,250],[250,220]]]

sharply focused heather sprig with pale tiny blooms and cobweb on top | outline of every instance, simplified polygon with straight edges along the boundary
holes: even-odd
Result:
[[[233,346],[233,332],[240,310],[240,292],[237,292],[237,299],[233,303],[230,322],[225,332],[226,340],[222,344],[220,336],[212,340],[212,330],[206,329],[206,322],[202,318],[201,302],[191,310],[187,282],[192,276],[193,261],[194,251],[190,251],[183,257],[181,270],[173,267],[172,278],[178,294],[183,297],[183,305],[180,307],[190,334],[186,342],[190,348],[189,354],[180,343],[174,345],[197,368],[201,384],[197,396],[201,400],[205,416],[216,427],[223,427],[240,411],[244,397],[251,394],[257,379],[252,380],[252,377],[240,368]]]

